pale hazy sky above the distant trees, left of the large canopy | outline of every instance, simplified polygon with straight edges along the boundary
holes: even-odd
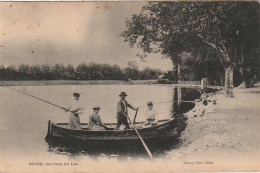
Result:
[[[136,56],[120,33],[145,2],[1,2],[0,65],[108,63],[171,70],[169,59]]]

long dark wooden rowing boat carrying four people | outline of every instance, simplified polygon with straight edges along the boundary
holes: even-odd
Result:
[[[144,122],[136,122],[134,126],[145,141],[156,141],[168,139],[176,135],[174,119],[159,120],[157,125],[143,127]],[[48,139],[61,139],[65,141],[78,141],[85,143],[107,143],[107,142],[134,142],[139,141],[139,137],[133,128],[127,130],[114,130],[116,123],[105,123],[108,130],[90,131],[88,124],[82,123],[82,130],[69,128],[68,123],[48,124]]]

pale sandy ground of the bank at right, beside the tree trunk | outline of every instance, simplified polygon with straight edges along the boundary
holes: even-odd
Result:
[[[170,155],[188,168],[193,164],[193,170],[259,171],[260,86],[236,89],[234,95],[217,94],[214,113],[189,118],[183,145]]]

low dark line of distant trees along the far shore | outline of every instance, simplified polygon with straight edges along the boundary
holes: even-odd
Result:
[[[157,79],[161,70],[145,68],[139,70],[135,63],[126,68],[108,64],[73,65],[26,65],[0,66],[0,80],[147,80]]]

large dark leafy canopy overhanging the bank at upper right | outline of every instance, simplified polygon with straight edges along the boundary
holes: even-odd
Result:
[[[157,52],[171,58],[175,72],[186,51],[215,62],[219,73],[237,69],[247,81],[258,71],[259,19],[257,2],[148,2],[126,20],[121,36],[143,50],[141,58]]]

